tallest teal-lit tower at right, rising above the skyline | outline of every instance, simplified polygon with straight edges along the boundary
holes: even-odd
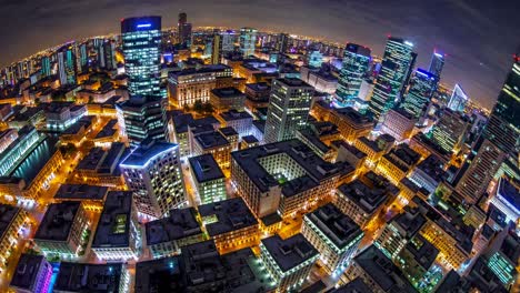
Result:
[[[390,37],[384,48],[381,70],[373,89],[369,111],[376,119],[387,113],[400,99],[416,60],[413,44]]]

